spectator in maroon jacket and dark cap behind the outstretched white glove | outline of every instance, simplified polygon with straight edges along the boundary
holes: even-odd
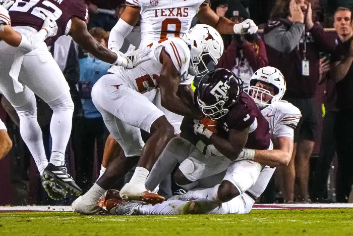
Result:
[[[229,4],[225,16],[239,24],[249,18],[240,3]],[[248,87],[254,71],[268,65],[265,43],[258,34],[234,34],[233,40],[218,61],[217,68],[225,68],[238,75]]]

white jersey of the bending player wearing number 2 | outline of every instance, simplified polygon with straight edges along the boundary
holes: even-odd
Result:
[[[188,83],[188,70],[190,63],[190,50],[181,38],[165,38],[148,45],[151,47],[151,59],[127,69],[121,66],[112,66],[108,72],[118,75],[131,88],[144,93],[158,87],[158,80],[162,64],[159,55],[164,51],[170,56],[175,68],[180,74],[180,84]]]

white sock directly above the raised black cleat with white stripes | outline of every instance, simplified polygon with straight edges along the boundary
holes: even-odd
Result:
[[[65,161],[65,151],[71,135],[74,103],[68,92],[48,103],[48,105],[53,110],[50,120],[50,135],[52,138],[50,163],[62,165]]]

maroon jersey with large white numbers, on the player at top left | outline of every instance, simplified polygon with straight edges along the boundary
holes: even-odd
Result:
[[[56,21],[57,34],[46,40],[51,45],[65,34],[70,19],[86,21],[88,11],[84,0],[16,0],[9,14],[12,26],[30,26],[36,30],[41,29],[46,17]]]

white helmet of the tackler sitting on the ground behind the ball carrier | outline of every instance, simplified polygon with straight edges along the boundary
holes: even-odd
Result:
[[[271,95],[270,91],[264,88],[255,86],[257,82],[263,82],[274,86],[275,95]],[[266,66],[258,69],[253,76],[251,76],[248,94],[255,100],[258,107],[263,108],[280,101],[284,95],[285,89],[285,80],[282,73],[274,67]],[[263,101],[262,95],[264,94],[271,97],[271,99]]]

